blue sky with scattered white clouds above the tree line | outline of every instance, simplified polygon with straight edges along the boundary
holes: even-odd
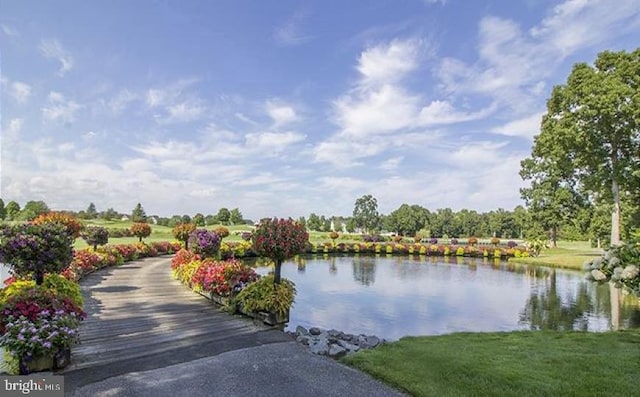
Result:
[[[350,215],[522,204],[576,62],[639,0],[0,0],[2,191],[54,209]]]

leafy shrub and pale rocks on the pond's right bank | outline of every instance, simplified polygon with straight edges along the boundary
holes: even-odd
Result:
[[[600,258],[586,262],[584,270],[587,280],[611,281],[640,297],[640,244],[613,247]]]

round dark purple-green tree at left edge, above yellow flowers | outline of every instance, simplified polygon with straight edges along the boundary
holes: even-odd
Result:
[[[45,273],[59,273],[73,259],[74,237],[58,223],[23,224],[0,232],[0,261],[20,278],[42,285]]]

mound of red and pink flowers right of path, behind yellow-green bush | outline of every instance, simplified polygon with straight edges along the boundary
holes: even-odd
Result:
[[[257,279],[258,276],[251,267],[236,260],[205,260],[193,274],[191,284],[196,290],[229,296]]]

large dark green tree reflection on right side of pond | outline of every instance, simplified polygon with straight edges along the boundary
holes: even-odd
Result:
[[[547,288],[534,291],[520,313],[520,323],[532,330],[588,330],[588,314],[593,311],[586,283],[578,286],[575,297],[563,302],[558,295],[556,272],[551,270]]]

